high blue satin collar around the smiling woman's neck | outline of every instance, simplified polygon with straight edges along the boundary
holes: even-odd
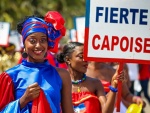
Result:
[[[33,63],[33,62],[28,62],[27,60],[22,61],[22,65],[27,66],[27,67],[45,67],[45,66],[50,66],[48,60],[44,60],[44,62],[40,63]]]

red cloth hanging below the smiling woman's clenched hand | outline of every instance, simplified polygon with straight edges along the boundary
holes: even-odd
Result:
[[[43,90],[40,91],[39,97],[32,102],[32,113],[52,113]]]

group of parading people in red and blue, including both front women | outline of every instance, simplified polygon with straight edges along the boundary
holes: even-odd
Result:
[[[120,72],[118,63],[85,61],[83,43],[60,46],[64,24],[56,11],[18,23],[24,48],[18,64],[0,75],[1,113],[115,113],[119,81],[121,113],[132,103],[146,106],[142,91],[150,103],[149,65],[140,64],[138,72],[132,73],[139,74],[141,85],[135,93],[129,64]]]

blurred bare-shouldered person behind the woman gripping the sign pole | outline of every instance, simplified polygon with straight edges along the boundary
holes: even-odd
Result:
[[[104,90],[107,93],[109,91],[108,87],[111,83],[112,75],[114,74],[117,66],[118,63],[91,61],[89,62],[86,74],[87,76],[98,78],[102,82]],[[141,103],[143,104],[143,107],[145,107],[145,102],[142,100],[142,98],[138,98],[129,91],[129,77],[126,68],[126,65],[124,65],[126,82],[122,84],[122,99],[120,105],[120,113],[126,113],[126,109],[131,103],[137,103],[138,105]]]

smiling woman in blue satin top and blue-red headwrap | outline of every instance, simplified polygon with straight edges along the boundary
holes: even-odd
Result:
[[[58,12],[49,11],[18,24],[25,60],[0,75],[0,113],[73,113],[69,73],[45,60],[48,50],[57,52],[64,23]]]

